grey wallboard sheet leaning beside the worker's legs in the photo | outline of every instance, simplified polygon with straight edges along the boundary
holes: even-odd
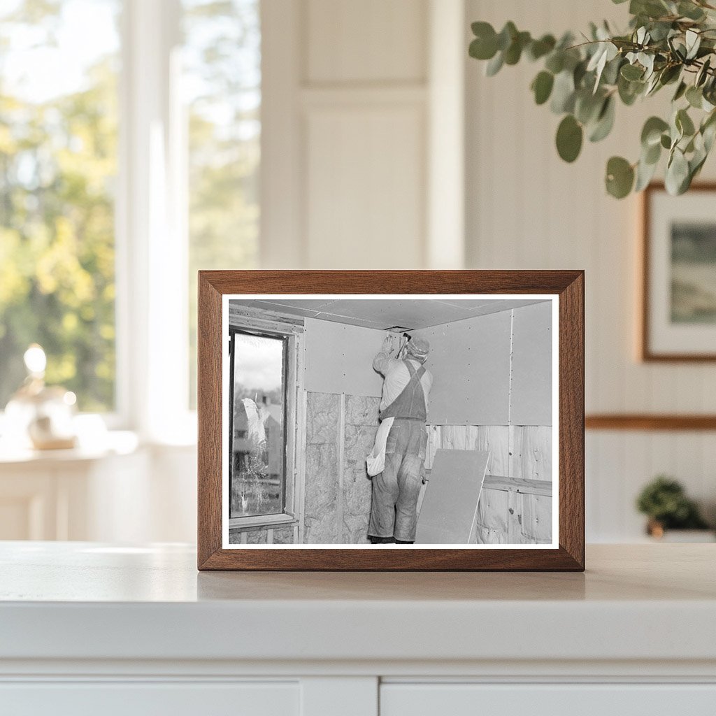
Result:
[[[437,450],[420,507],[416,544],[468,544],[489,450]]]

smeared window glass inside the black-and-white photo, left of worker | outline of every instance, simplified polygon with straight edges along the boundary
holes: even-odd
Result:
[[[284,511],[287,347],[285,337],[231,334],[231,518]]]

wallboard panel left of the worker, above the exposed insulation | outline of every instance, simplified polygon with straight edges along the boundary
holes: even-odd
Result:
[[[306,318],[304,332],[306,390],[380,397],[383,379],[373,359],[383,331]]]

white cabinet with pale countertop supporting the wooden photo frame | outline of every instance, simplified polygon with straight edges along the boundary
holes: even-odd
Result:
[[[714,716],[713,550],[198,574],[181,545],[0,543],[0,714]]]

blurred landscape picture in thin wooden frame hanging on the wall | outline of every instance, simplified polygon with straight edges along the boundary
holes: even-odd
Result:
[[[716,184],[643,201],[641,357],[716,360]]]

